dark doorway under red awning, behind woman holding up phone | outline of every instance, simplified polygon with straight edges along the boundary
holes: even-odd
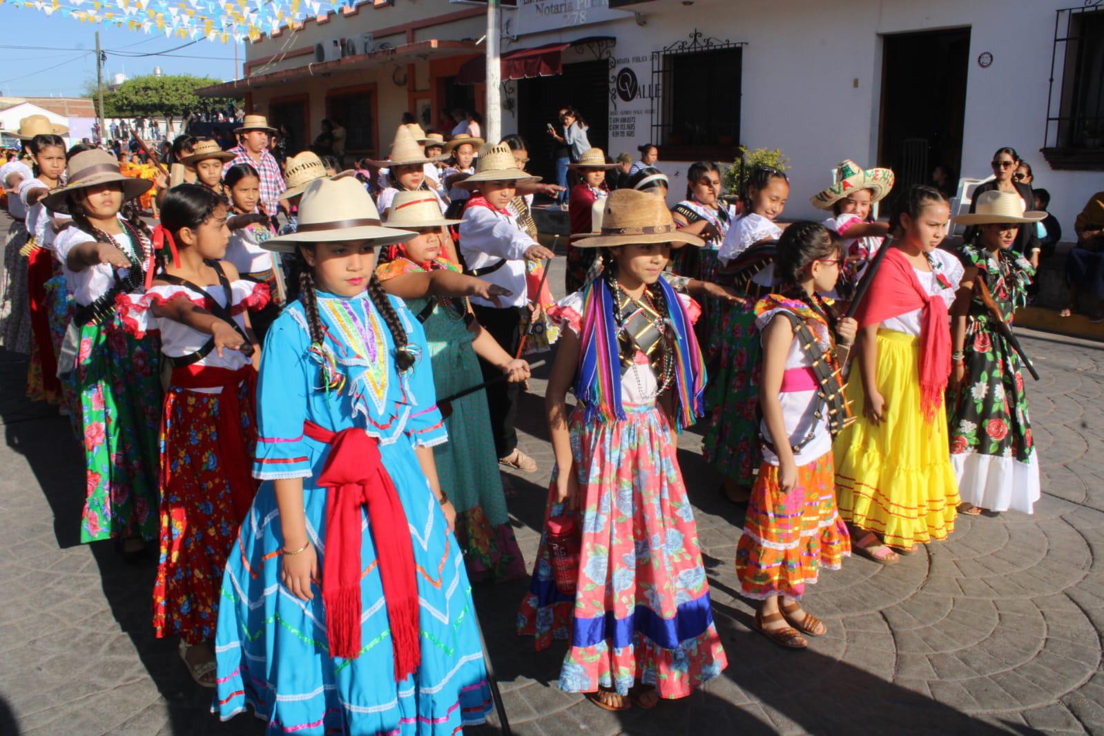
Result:
[[[578,110],[590,129],[591,146],[609,156],[609,62],[564,64],[563,74],[518,81],[518,132],[529,146],[529,171],[555,183],[554,142],[548,125],[556,125],[562,107]],[[616,153],[614,153],[616,156]]]

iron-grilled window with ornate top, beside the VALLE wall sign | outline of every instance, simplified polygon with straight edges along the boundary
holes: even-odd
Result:
[[[740,143],[743,43],[701,31],[651,54],[651,140],[667,159],[731,160]]]

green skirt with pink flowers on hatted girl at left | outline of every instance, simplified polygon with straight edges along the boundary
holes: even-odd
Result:
[[[81,541],[157,538],[161,418],[160,341],[128,335],[113,312],[81,328],[75,381],[81,401],[86,498]]]

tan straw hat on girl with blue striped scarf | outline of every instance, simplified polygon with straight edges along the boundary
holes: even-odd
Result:
[[[596,233],[572,236],[572,241],[576,248],[643,243],[705,245],[705,241],[697,235],[683,233],[675,226],[671,211],[662,199],[635,189],[618,189],[607,196],[602,211],[602,228]]]

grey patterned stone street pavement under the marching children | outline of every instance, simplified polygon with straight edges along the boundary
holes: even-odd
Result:
[[[514,637],[527,583],[478,587],[514,733],[1104,734],[1104,346],[1023,335],[1042,374],[1029,386],[1044,473],[1033,516],[959,518],[951,540],[891,568],[848,559],[808,596],[829,634],[787,652],[749,629],[733,568],[741,519],[691,431],[679,459],[728,670],[682,701],[606,713],[555,687],[562,644],[534,653]],[[174,642],[153,639],[152,563],[128,566],[109,544],[77,543],[78,447],[66,419],[22,397],[24,375],[25,363],[0,351],[0,733],[261,733],[248,716],[215,721]],[[540,471],[509,477],[530,563],[552,466],[538,375],[520,416]]]

